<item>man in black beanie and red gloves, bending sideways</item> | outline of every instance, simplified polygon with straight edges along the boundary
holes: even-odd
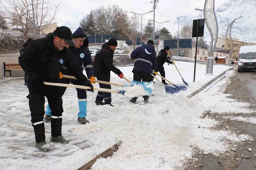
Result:
[[[98,80],[102,81],[110,81],[110,71],[113,71],[118,75],[118,77],[123,78],[124,74],[117,69],[113,65],[113,54],[117,47],[117,41],[115,39],[110,39],[108,42],[102,45],[102,48],[96,52],[94,61],[93,61],[93,68],[94,68],[94,74],[95,77],[97,77]],[[100,84],[100,88],[107,88],[111,89],[110,85]],[[105,103],[103,103],[103,99],[105,100]],[[113,106],[111,104],[111,93],[108,92],[98,92],[96,97],[96,105],[105,105],[108,104],[110,106]]]

